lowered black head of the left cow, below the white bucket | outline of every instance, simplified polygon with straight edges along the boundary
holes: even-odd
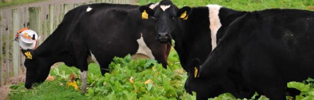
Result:
[[[24,65],[26,67],[25,87],[30,89],[34,83],[42,83],[47,78],[50,67],[45,58],[36,56],[34,50],[22,50],[25,55]]]

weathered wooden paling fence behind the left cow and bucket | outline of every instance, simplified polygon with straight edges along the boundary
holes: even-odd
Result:
[[[19,43],[14,41],[16,32],[29,27],[41,38],[38,45],[56,29],[63,16],[79,5],[91,3],[134,4],[136,0],[86,0],[83,3],[48,4],[33,7],[0,10],[0,86],[11,76],[25,74],[24,55]]]

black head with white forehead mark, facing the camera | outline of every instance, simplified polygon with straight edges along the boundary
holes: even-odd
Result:
[[[139,11],[142,13],[142,19],[155,19],[157,41],[169,43],[172,35],[176,32],[178,21],[187,20],[192,9],[187,6],[179,9],[170,0],[162,0],[153,9],[148,6],[140,6]]]

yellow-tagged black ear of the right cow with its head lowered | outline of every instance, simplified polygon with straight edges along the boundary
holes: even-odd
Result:
[[[189,75],[193,75],[194,78],[200,77],[200,59],[195,58],[193,61],[189,64]]]

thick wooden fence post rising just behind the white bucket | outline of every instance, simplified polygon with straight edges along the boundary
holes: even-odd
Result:
[[[38,34],[38,37],[42,36],[40,7],[30,7],[28,8],[28,11],[29,11],[29,28],[34,30]],[[38,42],[38,45],[40,44],[41,42]]]

